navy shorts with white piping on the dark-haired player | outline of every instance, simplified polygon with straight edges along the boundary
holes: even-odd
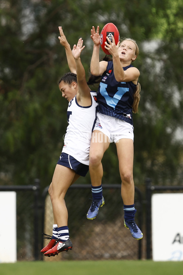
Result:
[[[76,172],[76,174],[78,174],[82,177],[85,177],[89,170],[88,165],[85,165],[85,164],[79,162],[78,160],[74,159],[72,156],[70,156],[66,153],[62,153],[60,155],[60,158],[59,158],[57,164],[71,168],[72,170],[74,170]]]

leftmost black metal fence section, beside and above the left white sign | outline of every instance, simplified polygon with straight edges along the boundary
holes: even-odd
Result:
[[[33,185],[0,185],[0,191],[16,192],[17,260],[31,261],[40,259],[39,180],[35,179]],[[11,226],[11,220],[9,221],[9,226]],[[9,245],[8,242],[7,245]]]

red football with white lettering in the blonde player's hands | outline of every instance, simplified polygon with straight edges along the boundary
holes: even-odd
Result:
[[[100,45],[102,47],[102,50],[104,51],[104,53],[106,54],[110,54],[108,50],[105,49],[105,42],[107,41],[107,36],[109,37],[109,39],[112,41],[112,35],[114,36],[114,40],[115,40],[115,44],[117,45],[117,42],[120,41],[120,34],[119,31],[117,29],[117,27],[113,24],[113,23],[107,23],[100,34]]]

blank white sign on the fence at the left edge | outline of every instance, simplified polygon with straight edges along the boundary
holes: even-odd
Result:
[[[0,192],[1,262],[16,262],[16,192]]]

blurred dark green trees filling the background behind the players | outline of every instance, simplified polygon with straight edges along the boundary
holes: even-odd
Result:
[[[71,47],[82,37],[89,69],[92,25],[113,22],[121,37],[136,39],[141,100],[134,115],[134,178],[179,184],[182,175],[181,0],[1,0],[0,2],[0,181],[44,188],[63,147],[68,102],[57,81],[69,71],[58,26]],[[100,52],[101,57],[104,53]],[[92,88],[92,87],[91,87]],[[92,88],[94,90],[94,88]],[[120,182],[115,145],[103,159],[103,182]],[[89,173],[80,182],[89,182]]]

